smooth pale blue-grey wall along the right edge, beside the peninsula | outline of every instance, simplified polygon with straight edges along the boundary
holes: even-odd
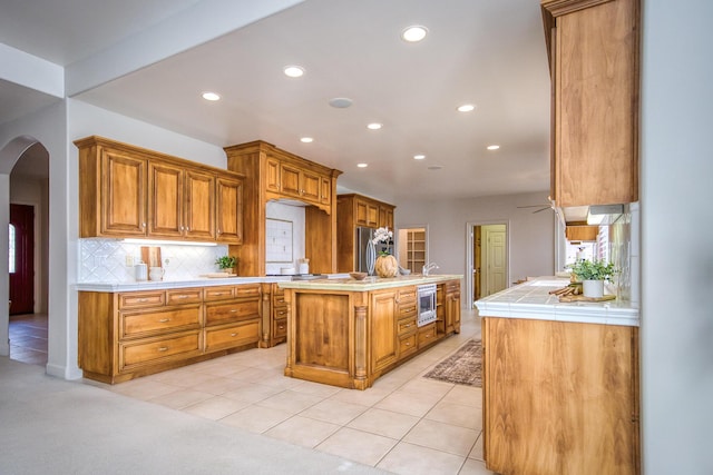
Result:
[[[643,473],[713,473],[713,2],[645,1]]]

